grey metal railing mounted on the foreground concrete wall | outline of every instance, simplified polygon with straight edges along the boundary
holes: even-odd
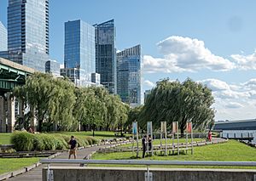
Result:
[[[149,166],[230,166],[230,167],[256,167],[256,161],[138,161],[138,160],[68,160],[68,159],[42,159],[48,164],[47,180],[50,179],[49,167],[53,163],[61,164],[102,164],[102,165],[143,165],[147,167],[147,177],[150,179]],[[152,177],[151,177],[152,178]]]

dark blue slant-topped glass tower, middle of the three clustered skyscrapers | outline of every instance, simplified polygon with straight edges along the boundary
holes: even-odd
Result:
[[[109,93],[116,89],[116,48],[114,20],[96,24],[96,73],[101,75],[101,84]]]

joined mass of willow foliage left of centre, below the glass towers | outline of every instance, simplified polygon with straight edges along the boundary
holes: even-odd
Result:
[[[79,124],[109,129],[122,128],[129,106],[105,88],[75,88],[67,79],[35,73],[26,85],[16,87],[14,95],[35,111],[38,132],[78,130]],[[32,119],[29,116],[29,119]],[[17,127],[23,122],[17,122]],[[24,124],[25,125],[25,124]],[[27,127],[27,126],[26,126]]]

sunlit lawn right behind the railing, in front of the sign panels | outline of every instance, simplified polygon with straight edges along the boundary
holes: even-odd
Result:
[[[134,153],[134,156],[135,154],[136,153]],[[140,152],[140,156],[142,156],[142,152]],[[96,153],[92,157],[92,159],[96,160],[126,160],[131,158],[133,158],[131,152],[108,154]],[[194,155],[188,154],[179,156],[153,156],[145,158],[145,160],[149,159],[162,161],[256,161],[256,149],[247,146],[246,144],[241,144],[236,140],[229,140],[227,143],[224,144],[211,144],[201,147],[195,147]],[[247,168],[256,169],[256,167]]]

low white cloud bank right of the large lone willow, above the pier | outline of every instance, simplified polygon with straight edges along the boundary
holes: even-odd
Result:
[[[256,79],[240,84],[228,84],[218,79],[206,79],[201,83],[212,89],[216,120],[256,117]]]

